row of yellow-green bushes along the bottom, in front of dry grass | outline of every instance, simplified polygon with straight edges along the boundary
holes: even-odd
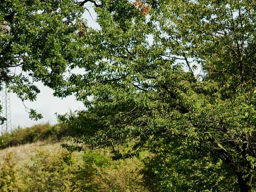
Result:
[[[58,143],[60,144],[60,143]],[[48,144],[45,143],[44,147]],[[20,146],[19,146],[20,147]],[[26,147],[26,145],[24,145]],[[112,161],[103,151],[74,154],[38,150],[30,161],[16,166],[8,153],[0,164],[1,192],[141,192],[142,162],[137,158]],[[55,150],[55,148],[49,148]],[[12,149],[17,151],[16,147]],[[27,149],[30,150],[30,149]],[[1,152],[1,151],[0,151]]]

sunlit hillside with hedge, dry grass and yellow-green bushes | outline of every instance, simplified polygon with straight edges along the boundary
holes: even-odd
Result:
[[[108,152],[102,150],[85,154],[68,152],[60,147],[58,136],[42,134],[49,133],[52,127],[48,124],[33,126],[2,137],[1,192],[147,191],[142,182],[140,160],[112,161]],[[19,132],[23,132],[20,138]],[[10,144],[14,140],[20,143]]]

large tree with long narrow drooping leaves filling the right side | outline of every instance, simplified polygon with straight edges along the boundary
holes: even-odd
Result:
[[[92,3],[100,29],[81,21],[79,62],[70,66],[85,73],[71,74],[56,91],[75,93],[88,109],[60,117],[77,132],[66,138],[75,144],[63,146],[110,148],[113,158],[146,148],[174,166],[169,173],[178,174],[178,164],[190,166],[180,180],[165,177],[176,191],[184,190],[177,183],[185,180],[188,191],[254,190],[256,3]],[[124,145],[128,152],[120,150]],[[204,162],[212,166],[205,169]],[[222,186],[207,184],[208,176]]]

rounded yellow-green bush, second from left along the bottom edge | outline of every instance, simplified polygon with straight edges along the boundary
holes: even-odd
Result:
[[[70,170],[75,164],[74,154],[60,150],[54,155],[45,150],[38,151],[31,166],[22,172],[24,191],[27,192],[70,192]]]

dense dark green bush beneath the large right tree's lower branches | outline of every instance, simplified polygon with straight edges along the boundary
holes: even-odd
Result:
[[[193,148],[162,145],[144,160],[144,184],[150,191],[239,191],[236,176],[222,160]]]

